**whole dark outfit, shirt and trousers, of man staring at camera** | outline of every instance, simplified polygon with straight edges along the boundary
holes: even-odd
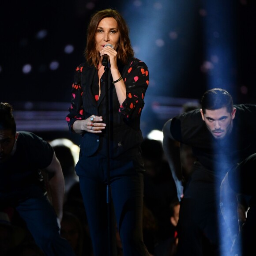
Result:
[[[232,245],[225,237],[219,187],[229,169],[256,152],[256,105],[234,107],[237,111],[233,129],[224,139],[214,139],[202,120],[200,109],[183,113],[171,121],[173,138],[190,145],[197,158],[181,200],[177,226],[179,256],[220,255],[219,243],[223,244],[222,255],[228,255]],[[208,243],[204,252],[202,239]]]

